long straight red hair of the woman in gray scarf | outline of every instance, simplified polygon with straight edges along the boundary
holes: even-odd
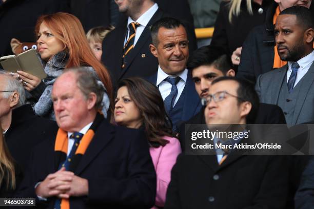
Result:
[[[110,104],[112,104],[113,88],[110,74],[105,66],[94,56],[80,20],[74,15],[64,12],[42,15],[37,19],[35,26],[36,34],[38,34],[43,22],[51,30],[53,35],[62,41],[65,50],[69,53],[66,68],[79,66],[93,67],[104,83],[110,98]]]

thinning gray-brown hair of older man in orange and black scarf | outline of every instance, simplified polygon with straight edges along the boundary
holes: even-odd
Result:
[[[67,72],[73,72],[76,75],[77,87],[81,90],[86,99],[89,97],[90,93],[96,94],[97,99],[94,107],[97,110],[102,110],[105,87],[101,81],[97,81],[95,73],[86,68],[70,68],[66,69],[63,73]]]

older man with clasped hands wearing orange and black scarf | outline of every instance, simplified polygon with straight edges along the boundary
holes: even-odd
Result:
[[[98,113],[103,87],[84,69],[54,83],[60,129],[33,150],[17,197],[44,208],[149,208],[156,178],[142,131],[115,127]],[[119,151],[119,152],[117,152]]]

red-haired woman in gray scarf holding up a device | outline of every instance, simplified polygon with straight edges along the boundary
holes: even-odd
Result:
[[[37,34],[37,48],[45,64],[47,78],[41,81],[29,73],[17,72],[25,89],[36,100],[35,113],[54,119],[50,97],[56,77],[65,68],[83,66],[88,68],[105,87],[107,94],[104,95],[102,112],[106,116],[113,91],[110,75],[89,47],[80,20],[74,15],[63,12],[43,15],[37,20],[35,33]]]

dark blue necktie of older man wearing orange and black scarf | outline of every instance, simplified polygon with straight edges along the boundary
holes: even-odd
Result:
[[[59,165],[60,170],[62,167],[66,168],[66,171],[69,170],[70,164],[72,162],[72,158],[75,155],[75,151],[77,150],[78,144],[80,144],[81,139],[83,138],[84,134],[81,134],[80,132],[74,132],[71,136],[70,139],[74,139],[74,143],[72,146],[72,149],[70,151],[70,154],[67,156],[66,160]],[[57,198],[54,202],[54,207],[55,209],[60,209],[61,208],[61,199]]]

